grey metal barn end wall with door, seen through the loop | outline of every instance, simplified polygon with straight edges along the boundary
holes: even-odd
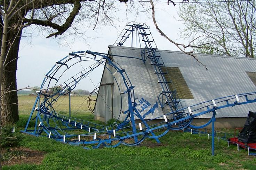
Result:
[[[120,92],[126,91],[126,88],[123,88],[123,79],[119,73],[112,75],[115,71],[116,69],[110,65],[104,68],[95,104],[95,120],[106,122],[110,119],[123,120],[126,117],[120,111],[128,109],[127,95],[120,94]]]

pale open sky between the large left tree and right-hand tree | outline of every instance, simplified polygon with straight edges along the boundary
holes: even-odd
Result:
[[[121,16],[119,18],[121,22],[116,22],[115,27],[107,25],[100,26],[100,28],[96,30],[92,28],[88,29],[86,35],[96,38],[86,39],[87,43],[83,39],[74,39],[74,37],[69,36],[66,37],[65,42],[60,45],[54,37],[46,39],[45,36],[47,34],[41,34],[37,30],[32,34],[32,38],[22,37],[19,47],[17,88],[40,86],[45,74],[55,65],[56,61],[61,60],[72,51],[90,50],[106,53],[108,51],[108,45],[114,44],[122,29],[131,21],[145,23],[150,27],[158,49],[178,51],[175,45],[171,44],[163,36],[160,36],[154,26],[152,18],[144,14],[135,17],[135,12],[129,13],[126,17],[125,3],[117,3],[120,9],[117,11],[117,14]],[[127,5],[129,6],[129,3]],[[182,40],[178,35],[179,29],[184,27],[182,22],[176,20],[178,19],[178,5],[179,4],[174,7],[171,4],[167,6],[167,3],[155,4],[155,18],[158,21],[160,29],[162,29],[170,39],[187,44],[187,42]],[[94,83],[90,83],[91,85],[87,85],[86,87],[80,84],[76,89],[93,90],[94,86],[99,83],[101,74],[102,70],[94,72],[92,77],[97,77],[94,79]]]

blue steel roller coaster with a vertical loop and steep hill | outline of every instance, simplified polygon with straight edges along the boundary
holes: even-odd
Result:
[[[169,113],[154,119],[144,120],[136,108],[137,103],[135,102],[134,94],[136,87],[131,83],[126,71],[112,59],[115,55],[110,56],[107,53],[93,51],[78,51],[69,53],[69,55],[56,62],[50,71],[45,74],[40,87],[41,90],[37,91],[32,111],[22,132],[33,136],[47,136],[71,145],[82,145],[84,148],[99,148],[100,146],[117,147],[120,144],[135,146],[142,143],[145,138],[155,139],[160,142],[159,138],[166,135],[170,130],[184,130],[187,128],[197,130],[211,124],[210,135],[212,136],[212,155],[214,155],[216,111],[236,105],[254,103],[256,102],[256,92],[234,94],[183,107],[176,92],[169,89],[168,83],[171,82],[167,82],[164,76],[165,73],[161,69],[164,63],[149,27],[145,24],[129,23],[123,29],[115,44],[122,46],[128,39],[131,40],[131,46],[137,46],[137,42],[140,42],[140,47],[144,45],[141,48],[141,60],[143,62],[146,60],[151,61],[151,65],[153,65],[156,76],[159,79],[158,83],[162,88],[161,93],[157,96],[161,105],[160,109],[168,108],[170,110]],[[141,44],[141,42],[144,44]],[[87,66],[84,65],[85,63],[87,63]],[[78,70],[78,66],[82,69]],[[102,67],[110,71],[115,81],[117,81],[117,75],[121,77],[121,81],[125,85],[125,91],[121,91],[121,88],[119,88],[120,94],[126,94],[123,97],[127,96],[128,101],[128,109],[120,111],[120,114],[125,114],[126,118],[109,126],[71,117],[70,101],[72,91],[79,82],[86,78],[91,79],[90,75],[93,71]],[[70,73],[75,74],[70,76]],[[96,92],[98,93],[98,90]],[[55,103],[62,96],[69,96],[70,110],[68,116],[56,111]],[[93,112],[94,108],[90,105],[90,99],[87,99],[87,101],[89,110]],[[212,113],[212,117],[205,125],[194,126],[191,124],[195,117],[206,113]],[[135,117],[138,117],[141,123],[135,123]],[[149,121],[156,119],[161,121],[154,125],[149,124]],[[29,127],[31,122],[34,124],[33,128]]]

